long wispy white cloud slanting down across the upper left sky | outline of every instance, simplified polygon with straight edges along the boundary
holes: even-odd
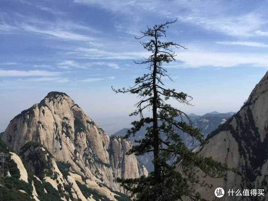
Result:
[[[50,8],[40,7],[49,10]],[[87,41],[94,42],[96,37],[92,35],[100,34],[101,31],[93,29],[84,24],[74,23],[69,19],[58,19],[56,22],[28,17],[23,14],[16,14],[20,19],[11,22],[7,20],[9,16],[1,18],[0,34],[31,34],[46,36],[48,39],[60,39],[64,41]],[[8,22],[9,21],[9,22]]]

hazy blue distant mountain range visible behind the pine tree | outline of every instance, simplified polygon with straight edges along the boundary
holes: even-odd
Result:
[[[211,133],[213,130],[215,130],[219,125],[226,122],[226,120],[230,117],[232,117],[233,114],[236,112],[227,112],[227,113],[219,113],[217,111],[206,113],[202,116],[196,115],[194,113],[189,114],[188,116],[192,119],[194,127],[201,128],[201,133],[204,135],[204,138]],[[187,118],[183,118],[184,121],[187,121]],[[187,121],[188,122],[188,121]],[[145,130],[146,126],[142,127],[139,132],[136,133],[135,136],[130,136],[129,140],[132,142],[132,144],[135,144],[135,140],[142,139],[144,134],[146,133]],[[124,136],[129,128],[123,128],[119,130],[118,132],[114,133],[114,135],[118,136]],[[178,131],[181,138],[183,139],[184,143],[190,148],[195,149],[198,145],[198,141],[193,141],[192,138],[190,138],[187,134],[183,133],[182,131]],[[147,170],[150,172],[153,170],[153,166],[151,163],[152,155],[143,155],[138,156],[138,159],[144,164],[144,166],[147,168]]]

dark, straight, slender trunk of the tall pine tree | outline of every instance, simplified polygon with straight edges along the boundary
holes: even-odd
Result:
[[[159,136],[157,125],[157,90],[156,90],[156,68],[157,68],[157,37],[155,31],[155,58],[153,70],[153,137],[154,137],[154,172],[156,182],[161,182],[161,169],[159,163]]]

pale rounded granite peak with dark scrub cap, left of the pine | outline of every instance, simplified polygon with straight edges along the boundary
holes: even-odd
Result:
[[[139,177],[148,172],[134,155],[131,144],[109,136],[65,93],[50,92],[39,104],[10,121],[3,141],[16,153],[29,142],[40,142],[53,157],[69,163],[90,181],[123,192],[116,177]]]

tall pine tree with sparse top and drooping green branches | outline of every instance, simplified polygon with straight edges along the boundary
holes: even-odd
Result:
[[[134,153],[139,156],[153,153],[154,171],[150,172],[148,177],[117,178],[117,181],[121,182],[121,185],[129,190],[131,197],[137,201],[173,201],[182,200],[183,197],[203,200],[191,185],[200,184],[206,188],[211,188],[212,185],[200,181],[198,172],[202,172],[203,176],[219,178],[228,170],[235,171],[211,157],[198,156],[187,148],[176,132],[182,130],[201,144],[207,143],[200,134],[200,129],[193,127],[191,119],[185,112],[167,104],[167,100],[171,98],[186,105],[191,105],[189,101],[192,100],[186,93],[166,89],[163,83],[165,77],[172,80],[162,66],[175,60],[176,55],[172,47],[187,49],[173,41],[160,41],[161,37],[166,37],[168,26],[176,21],[177,19],[167,21],[153,28],[147,26],[146,31],[141,31],[143,36],[135,37],[139,40],[149,38],[147,42],[140,43],[152,54],[142,61],[134,61],[136,64],[147,64],[149,73],[136,78],[134,86],[128,89],[115,90],[112,87],[116,93],[136,94],[140,98],[135,104],[137,110],[130,114],[139,116],[140,120],[131,123],[133,128],[128,131],[125,138],[135,136],[142,126],[147,126],[144,138],[135,140],[138,145],[134,145],[127,154]],[[143,116],[145,109],[151,109],[152,117]],[[188,123],[184,121],[185,118]],[[179,164],[170,164],[172,159],[179,161]]]

